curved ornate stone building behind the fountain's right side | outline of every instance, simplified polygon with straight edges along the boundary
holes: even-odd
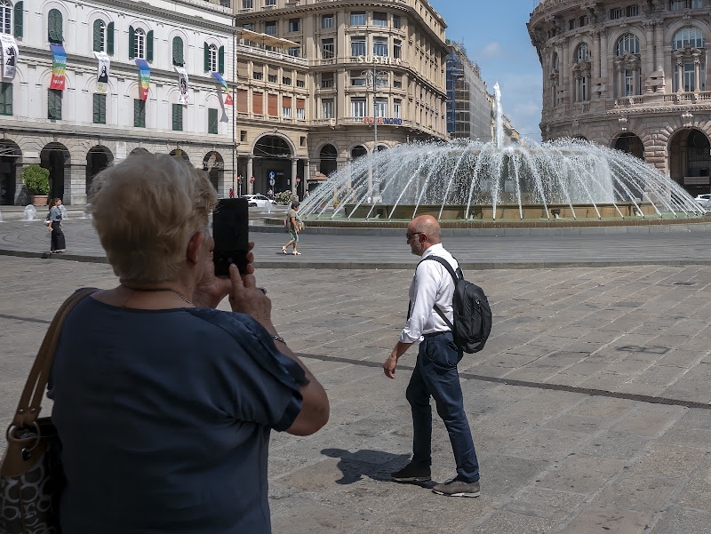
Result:
[[[542,0],[528,28],[544,140],[617,148],[709,193],[711,0]]]

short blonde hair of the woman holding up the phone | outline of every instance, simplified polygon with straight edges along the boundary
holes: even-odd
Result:
[[[92,183],[92,222],[114,273],[157,282],[175,275],[217,194],[204,171],[164,154],[132,155]]]

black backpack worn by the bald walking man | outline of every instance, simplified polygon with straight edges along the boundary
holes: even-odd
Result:
[[[454,294],[451,299],[454,324],[436,305],[435,312],[451,328],[454,343],[460,350],[469,354],[479,352],[483,349],[486,339],[489,339],[491,333],[491,307],[489,307],[489,300],[486,299],[483,289],[474,283],[467,282],[459,267],[455,273],[446,259],[427,256],[422,261],[427,259],[441,263],[449,271],[454,281]]]

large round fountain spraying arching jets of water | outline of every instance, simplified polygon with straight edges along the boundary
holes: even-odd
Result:
[[[505,146],[499,85],[494,142],[400,145],[336,172],[303,204],[307,219],[679,218],[704,210],[632,155],[579,139]]]

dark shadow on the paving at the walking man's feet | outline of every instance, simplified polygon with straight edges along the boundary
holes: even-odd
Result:
[[[338,468],[343,476],[337,484],[352,484],[367,476],[378,482],[393,482],[390,473],[401,469],[410,459],[409,454],[393,454],[382,450],[357,450],[350,452],[344,449],[324,449],[321,454],[330,458],[340,458]],[[418,485],[429,487],[434,482],[422,482]]]

